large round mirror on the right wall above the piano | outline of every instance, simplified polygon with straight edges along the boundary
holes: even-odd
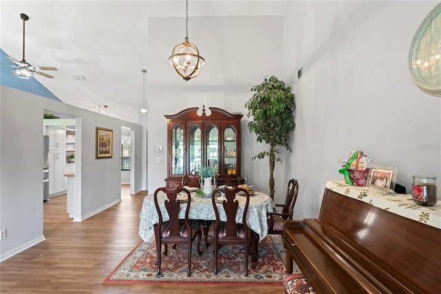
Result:
[[[441,3],[424,19],[413,37],[409,71],[418,88],[441,97]]]

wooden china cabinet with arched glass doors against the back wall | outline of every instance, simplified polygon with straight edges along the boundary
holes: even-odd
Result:
[[[187,108],[167,118],[167,182],[180,186],[185,174],[211,166],[217,174],[240,177],[240,119],[220,108]]]

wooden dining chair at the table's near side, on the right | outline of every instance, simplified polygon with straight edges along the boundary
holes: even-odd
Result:
[[[215,197],[216,193],[220,191],[225,193],[224,197]],[[243,192],[245,197],[245,206],[243,208],[243,215],[241,223],[236,222],[236,214],[239,207],[238,199],[236,199],[236,193]],[[221,199],[221,201],[220,201]],[[243,244],[245,248],[245,275],[248,275],[248,254],[250,248],[250,239],[254,238],[255,233],[248,228],[246,219],[247,211],[249,206],[249,194],[244,188],[216,188],[212,194],[212,203],[214,208],[214,213],[216,215],[216,222],[214,223],[213,229],[213,243],[214,243],[214,273],[218,273],[218,248],[225,244]],[[220,221],[220,214],[218,210],[218,205],[223,206],[225,210],[225,215],[227,216],[226,222]],[[252,256],[254,256],[255,247],[252,247]],[[254,262],[252,261],[252,267],[255,268]]]

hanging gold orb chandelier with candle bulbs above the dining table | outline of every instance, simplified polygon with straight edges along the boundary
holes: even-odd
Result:
[[[199,55],[198,48],[188,41],[188,0],[185,6],[185,15],[185,32],[187,34],[185,42],[174,46],[172,56],[168,58],[168,61],[178,75],[188,81],[199,75],[205,59]]]

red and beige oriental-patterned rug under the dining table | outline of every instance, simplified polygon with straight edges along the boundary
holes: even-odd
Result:
[[[214,274],[213,246],[205,248],[203,254],[196,253],[196,242],[192,246],[192,275],[187,276],[187,246],[169,245],[168,254],[162,255],[161,275],[156,275],[156,244],[154,237],[141,242],[107,275],[104,284],[235,284],[273,285],[282,284],[286,274],[286,255],[280,235],[267,235],[259,244],[259,259],[256,268],[248,266],[245,276],[244,249],[240,245],[225,245],[219,248],[218,274]],[[251,260],[251,257],[249,257]],[[294,264],[294,273],[300,270]]]

